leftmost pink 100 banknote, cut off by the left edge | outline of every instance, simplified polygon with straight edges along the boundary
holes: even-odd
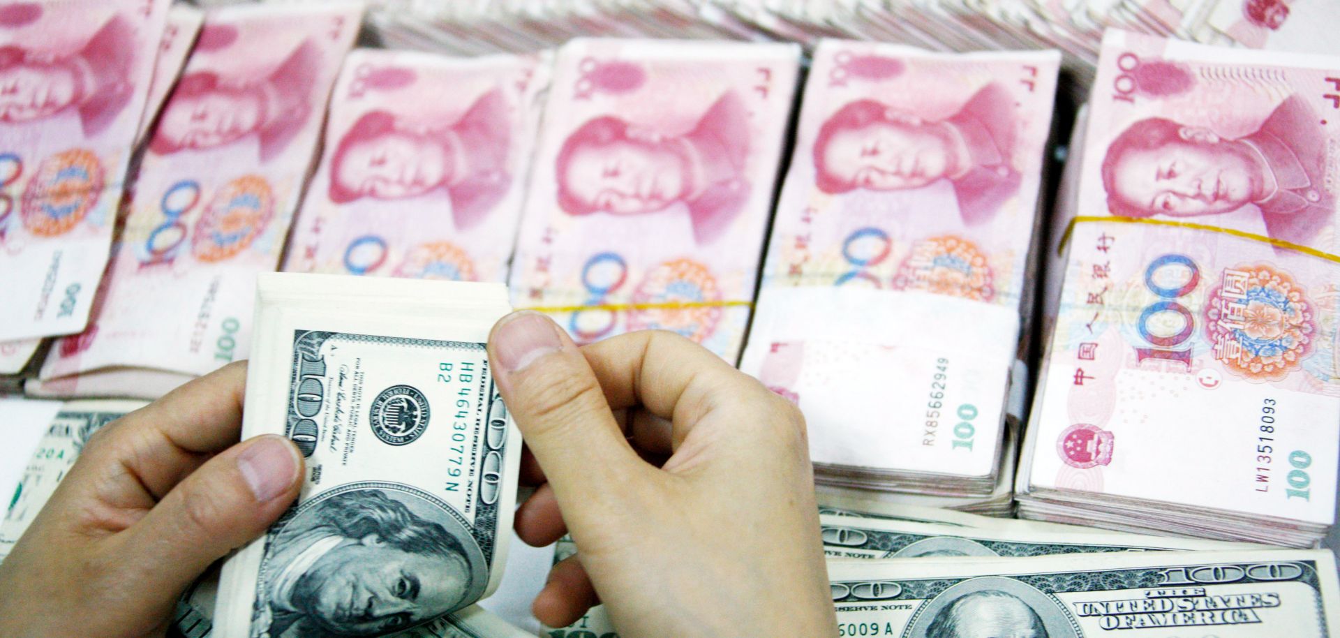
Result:
[[[0,342],[87,324],[166,15],[0,3]]]

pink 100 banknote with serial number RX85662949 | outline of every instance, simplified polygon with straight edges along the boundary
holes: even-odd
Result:
[[[993,484],[1059,66],[816,48],[741,362],[815,462]]]

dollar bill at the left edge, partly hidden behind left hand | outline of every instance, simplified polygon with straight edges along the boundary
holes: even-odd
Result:
[[[145,405],[143,401],[71,401],[60,406],[9,499],[9,509],[0,523],[0,560],[9,555],[56,485],[70,473],[88,438],[102,426]]]

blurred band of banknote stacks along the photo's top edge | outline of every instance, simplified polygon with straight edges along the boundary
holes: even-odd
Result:
[[[224,0],[228,1],[228,0]],[[1335,3],[1313,0],[378,0],[389,44],[477,55],[533,51],[578,35],[891,42],[933,51],[1056,48],[1092,79],[1103,31],[1215,46],[1340,52]]]

